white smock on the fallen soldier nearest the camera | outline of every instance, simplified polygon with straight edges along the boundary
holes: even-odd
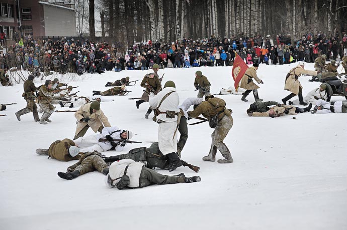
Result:
[[[120,178],[124,175],[125,168],[127,168],[126,175],[129,176],[130,183],[127,185],[130,188],[136,188],[140,185],[140,174],[142,171],[143,163],[135,162],[131,159],[123,159],[115,161],[110,165],[109,174],[106,175],[105,182],[108,187],[115,187],[120,181]],[[108,178],[112,181],[108,183]],[[118,178],[118,179],[117,179]],[[117,179],[117,180],[116,180]]]

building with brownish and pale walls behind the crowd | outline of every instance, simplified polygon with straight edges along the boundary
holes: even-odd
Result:
[[[67,7],[68,6],[68,7]],[[33,37],[76,36],[71,4],[38,0],[0,0],[0,36],[18,40]]]

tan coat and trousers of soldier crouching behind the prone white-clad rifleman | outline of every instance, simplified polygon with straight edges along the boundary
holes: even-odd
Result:
[[[101,109],[99,109],[96,113],[91,114],[91,104],[92,103],[82,105],[78,109],[78,111],[75,112],[75,118],[77,119],[77,127],[74,139],[84,136],[89,127],[91,127],[95,133],[97,131],[101,132],[104,126],[111,127],[109,120],[104,115],[104,112]],[[88,123],[80,121],[82,118],[86,117],[91,118],[91,120],[88,121]]]

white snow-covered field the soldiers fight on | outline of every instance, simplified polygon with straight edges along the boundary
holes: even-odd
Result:
[[[283,90],[287,72],[296,64],[266,66],[258,69],[264,85],[258,90],[264,101],[281,99],[290,92]],[[313,64],[306,64],[313,70]],[[201,70],[211,82],[211,93],[233,86],[232,67],[203,67],[160,70],[167,80],[176,83],[180,102],[196,97],[194,73]],[[111,96],[101,109],[111,125],[133,131],[132,140],[123,152],[109,151],[107,156],[126,153],[132,148],[157,141],[158,125],[144,119],[148,103],[136,109],[144,71],[107,72],[83,75],[74,81],[80,96],[93,90],[104,91],[107,81],[130,76],[140,79],[127,96]],[[61,78],[59,75],[51,75]],[[303,96],[318,87],[300,77]],[[67,79],[67,77],[65,77]],[[36,86],[42,84],[34,80]],[[40,125],[32,114],[18,121],[15,112],[26,106],[21,97],[22,84],[0,87],[0,103],[8,106],[0,114],[0,229],[347,229],[347,115],[342,113],[302,113],[275,119],[248,117],[248,102],[241,95],[222,95],[233,110],[234,125],[225,139],[234,162],[205,162],[211,133],[208,123],[189,126],[189,138],[182,159],[201,167],[195,173],[188,167],[173,172],[187,176],[200,175],[197,183],[153,185],[145,188],[110,189],[104,175],[91,172],[67,181],[58,177],[73,163],[47,159],[35,153],[37,148],[63,138],[72,139],[75,132],[73,113],[53,113],[52,123]],[[297,99],[293,98],[293,99]],[[345,100],[332,97],[332,101]],[[60,108],[58,110],[70,108]],[[192,109],[192,108],[191,108]],[[76,110],[74,108],[73,110]],[[41,115],[40,115],[41,116]],[[197,122],[192,119],[189,123]],[[89,130],[87,135],[94,134]],[[217,159],[222,158],[217,152]]]

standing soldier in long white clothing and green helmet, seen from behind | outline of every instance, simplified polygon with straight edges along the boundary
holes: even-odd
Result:
[[[167,81],[162,91],[157,95],[149,95],[149,105],[155,111],[158,128],[159,150],[166,155],[169,163],[169,171],[182,166],[182,162],[177,154],[177,129],[178,129],[178,109],[180,98],[176,92],[176,85],[172,81]]]

